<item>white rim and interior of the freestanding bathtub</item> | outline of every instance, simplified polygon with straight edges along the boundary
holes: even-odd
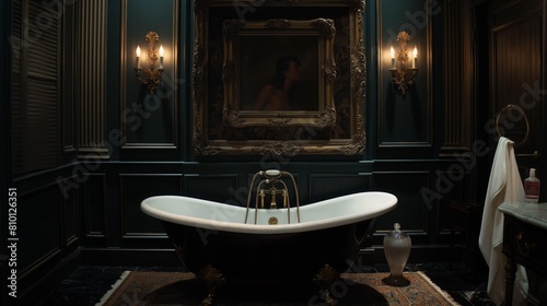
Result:
[[[334,227],[384,214],[395,208],[397,198],[387,192],[366,191],[342,196],[300,207],[300,223],[296,208],[290,209],[288,224],[287,209],[249,209],[245,223],[246,208],[200,200],[181,196],[158,196],[141,203],[141,210],[159,220],[208,229],[248,234],[296,233]],[[268,220],[276,217],[278,224]]]

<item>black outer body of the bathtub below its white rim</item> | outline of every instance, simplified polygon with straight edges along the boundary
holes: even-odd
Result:
[[[186,269],[198,273],[210,264],[226,279],[251,280],[311,280],[325,264],[341,273],[351,267],[373,224],[370,219],[302,233],[246,234],[163,221]]]

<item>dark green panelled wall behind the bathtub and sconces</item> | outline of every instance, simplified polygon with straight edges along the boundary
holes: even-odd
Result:
[[[81,263],[177,264],[163,228],[140,211],[140,202],[155,195],[232,202],[242,198],[252,174],[270,167],[296,176],[301,202],[365,190],[396,195],[397,208],[377,220],[377,232],[371,239],[377,252],[371,260],[383,260],[383,233],[395,222],[412,237],[411,260],[446,260],[442,255],[451,242],[449,203],[473,195],[465,188],[466,178],[457,173],[464,162],[439,157],[444,142],[438,129],[446,122],[439,116],[443,98],[442,85],[437,81],[444,72],[433,67],[440,63],[434,55],[443,51],[444,38],[439,31],[442,5],[423,0],[368,1],[363,101],[368,142],[363,156],[327,161],[321,156],[298,161],[243,156],[202,162],[195,158],[191,148],[191,2],[103,1],[100,3],[106,7],[97,10],[107,15],[93,19],[80,13],[80,5],[91,2],[80,1],[53,15],[63,21],[58,34],[61,60],[56,74],[57,90],[62,94],[57,101],[57,129],[49,132],[66,145],[58,145],[54,165],[11,166],[9,170],[9,177],[13,177],[9,186],[19,191],[21,301],[43,296],[58,275]],[[24,19],[27,1],[22,3],[20,14]],[[105,36],[93,32],[97,28],[90,27],[93,22],[105,26]],[[394,94],[387,71],[388,47],[395,45],[393,35],[399,30],[409,31],[410,45],[419,48],[416,87],[406,97]],[[100,57],[104,66],[85,61],[94,56],[85,57],[80,49],[80,42],[89,38],[86,31],[105,43],[104,57]],[[148,31],[156,31],[166,49],[165,82],[158,101],[143,97],[132,69],[135,48],[138,44],[143,48]],[[100,51],[97,47],[91,54]],[[13,51],[10,54],[13,56]],[[28,59],[25,52],[18,55],[23,62]],[[93,75],[104,76],[93,81],[104,90],[92,89],[85,79],[88,69]],[[11,81],[19,78],[14,75]],[[27,85],[24,80],[21,84]],[[90,95],[82,94],[86,90]],[[18,109],[23,109],[21,120],[25,122],[28,115],[24,106]],[[2,115],[9,118],[13,113]],[[22,122],[9,129],[12,143],[39,157],[40,148],[32,141],[36,136],[19,130]],[[10,154],[14,160],[25,158],[16,150]]]

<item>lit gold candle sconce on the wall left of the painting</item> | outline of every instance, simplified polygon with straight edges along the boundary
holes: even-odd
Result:
[[[160,49],[156,49],[156,44],[160,42],[160,36],[155,32],[149,32],[146,38],[148,43],[148,51],[144,57],[144,67],[140,64],[140,56],[141,49],[137,46],[135,54],[137,55],[137,67],[135,68],[135,72],[137,73],[137,79],[141,82],[142,85],[148,86],[148,91],[151,95],[154,94],[160,81],[162,80],[163,74],[163,46],[160,46]],[[155,61],[158,60],[158,54],[160,54],[160,63],[159,67],[155,67]],[[147,61],[148,59],[148,61]]]

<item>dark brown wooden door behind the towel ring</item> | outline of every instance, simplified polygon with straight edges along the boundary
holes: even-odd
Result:
[[[491,148],[500,136],[515,142],[522,179],[536,168],[545,183],[540,200],[547,201],[543,1],[490,1],[487,12],[490,71],[485,130]]]

